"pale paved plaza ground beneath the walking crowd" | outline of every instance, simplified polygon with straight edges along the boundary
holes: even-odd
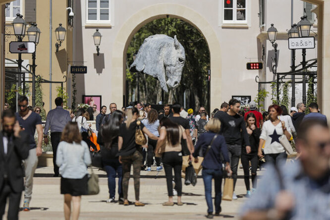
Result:
[[[153,166],[152,169],[156,170]],[[203,179],[199,176],[196,186],[183,185],[182,201],[183,206],[174,205],[164,207],[162,204],[167,200],[167,189],[165,172],[142,171],[140,201],[146,203],[145,207],[134,205],[123,206],[118,203],[106,203],[109,197],[107,177],[104,171],[97,171],[100,174],[100,193],[94,196],[83,196],[81,202],[80,219],[137,219],[137,220],[184,220],[184,219],[205,219],[207,205],[204,196]],[[158,174],[157,178],[156,175]],[[259,172],[261,174],[261,172]],[[243,194],[246,193],[243,169],[238,170],[236,194],[239,196],[236,201],[222,201],[222,212],[220,217],[238,219],[238,210],[246,201]],[[130,179],[128,199],[134,201],[133,179]],[[38,167],[34,178],[31,211],[19,213],[23,220],[57,220],[63,219],[63,195],[60,194],[60,178],[53,177],[53,167]],[[213,191],[214,193],[214,191]],[[213,194],[214,195],[214,194]],[[116,199],[118,198],[116,194]],[[176,197],[174,197],[174,201]],[[22,204],[21,204],[22,206]]]

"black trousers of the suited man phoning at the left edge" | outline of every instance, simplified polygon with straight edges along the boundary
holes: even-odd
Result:
[[[0,217],[4,214],[7,198],[9,198],[8,220],[18,220],[19,202],[21,201],[21,192],[13,192],[7,181],[3,183],[0,191]]]

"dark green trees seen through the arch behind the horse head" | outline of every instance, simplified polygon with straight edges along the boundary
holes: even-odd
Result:
[[[170,37],[177,36],[178,41],[185,49],[186,61],[182,72],[180,86],[173,91],[174,101],[183,103],[183,94],[186,91],[188,107],[196,109],[203,105],[208,109],[208,70],[210,69],[210,52],[203,35],[189,23],[177,18],[162,18],[153,20],[144,25],[134,36],[127,49],[126,82],[128,96],[137,88],[137,73],[129,71],[136,54],[144,39],[155,34],[165,34]],[[160,94],[160,85],[156,78],[147,74],[139,74],[140,101],[157,103]],[[165,102],[168,100],[165,93]],[[136,99],[135,99],[136,100]],[[128,99],[128,102],[132,98]]]

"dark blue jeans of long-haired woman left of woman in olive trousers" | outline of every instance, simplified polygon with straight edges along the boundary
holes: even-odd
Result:
[[[110,198],[115,197],[116,192],[116,174],[118,175],[118,194],[119,198],[123,198],[122,194],[122,165],[119,163],[118,159],[115,159],[111,165],[105,165],[104,169],[108,176],[108,188]]]

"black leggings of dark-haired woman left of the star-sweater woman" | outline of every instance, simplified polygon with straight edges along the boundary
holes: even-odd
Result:
[[[257,168],[258,168],[258,155],[252,154],[252,155],[247,155],[247,154],[242,154],[241,155],[241,162],[243,165],[243,170],[244,170],[244,182],[245,182],[245,187],[246,190],[250,190],[250,165],[249,161],[251,161],[251,176],[252,176],[252,188],[257,187]]]

